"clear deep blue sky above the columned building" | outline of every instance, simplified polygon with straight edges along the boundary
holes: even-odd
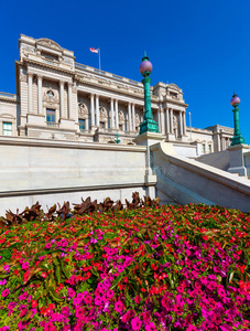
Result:
[[[232,127],[235,90],[241,134],[250,143],[249,0],[4,1],[0,15],[1,92],[15,93],[21,33],[52,39],[95,67],[98,55],[89,47],[100,47],[102,70],[135,81],[146,50],[152,84],[183,89],[194,127]]]

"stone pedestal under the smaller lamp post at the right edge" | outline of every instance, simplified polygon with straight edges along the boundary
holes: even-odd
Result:
[[[247,168],[244,167],[243,153],[249,151],[248,145],[235,145],[228,148],[229,151],[229,169],[228,172],[239,173],[239,175],[247,175]]]

